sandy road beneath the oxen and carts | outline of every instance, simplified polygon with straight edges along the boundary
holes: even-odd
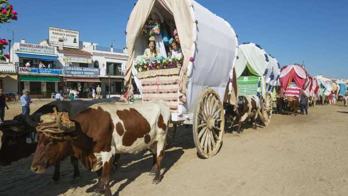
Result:
[[[38,104],[39,105],[39,104]],[[11,107],[11,106],[10,106]],[[13,105],[15,107],[15,105]],[[11,108],[13,108],[11,107]],[[32,106],[32,110],[34,106]],[[6,111],[7,112],[7,111]],[[8,115],[10,114],[7,113]],[[221,151],[202,160],[191,129],[179,127],[165,153],[159,185],[148,176],[152,157],[122,156],[112,174],[116,196],[346,196],[348,195],[348,107],[316,106],[309,115],[274,115],[268,127],[226,133]],[[30,172],[32,156],[0,167],[0,196],[88,196],[95,174],[81,168],[72,180],[69,160],[61,164],[59,184]]]

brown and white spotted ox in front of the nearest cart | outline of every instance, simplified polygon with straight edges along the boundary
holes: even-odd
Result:
[[[31,170],[43,173],[48,166],[73,155],[86,169],[97,173],[95,195],[111,196],[110,173],[115,155],[149,149],[154,161],[150,175],[158,184],[170,120],[171,111],[163,101],[98,103],[72,116],[74,126],[63,124],[60,114],[57,124],[64,133],[39,133]]]

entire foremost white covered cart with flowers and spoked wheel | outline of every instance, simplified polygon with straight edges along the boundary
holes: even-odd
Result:
[[[176,27],[184,58],[175,61],[174,67],[174,61],[166,58],[158,62],[137,61],[148,47],[145,41],[149,36],[144,34],[144,28],[149,20],[151,24],[169,26],[167,29]],[[173,31],[168,32],[173,37]],[[154,36],[160,54],[166,56],[162,33],[161,30]],[[174,128],[176,124],[192,124],[199,155],[214,156],[224,134],[223,102],[236,104],[237,98],[233,65],[238,42],[231,25],[193,0],[139,0],[126,34],[129,60],[125,86],[131,89],[134,79],[143,101],[164,100],[172,110]]]

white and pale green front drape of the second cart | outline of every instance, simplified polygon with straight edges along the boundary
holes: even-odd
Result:
[[[235,62],[234,68],[239,78],[246,67],[251,73],[261,76],[261,92],[262,96],[265,96],[265,81],[263,74],[266,70],[266,53],[264,50],[256,46],[255,43],[241,44],[238,48],[238,59]]]

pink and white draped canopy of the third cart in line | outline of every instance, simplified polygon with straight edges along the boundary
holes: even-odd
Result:
[[[280,72],[280,83],[283,89],[286,89],[290,82],[295,82],[299,88],[302,88],[306,82],[307,73],[299,65],[284,66]]]

